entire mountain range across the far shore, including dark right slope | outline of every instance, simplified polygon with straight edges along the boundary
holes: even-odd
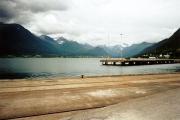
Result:
[[[159,43],[143,42],[127,47],[121,45],[92,46],[64,37],[55,40],[47,35],[37,36],[19,24],[0,23],[0,57],[120,57],[121,55],[132,57],[153,53],[154,49],[157,51],[159,44],[161,45],[160,50],[166,45],[168,52],[174,52],[180,48],[177,34],[179,30],[169,39]],[[175,45],[172,42],[175,42]]]

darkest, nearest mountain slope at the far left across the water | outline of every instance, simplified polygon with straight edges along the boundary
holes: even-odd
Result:
[[[0,55],[54,55],[58,44],[44,41],[18,24],[0,24]]]

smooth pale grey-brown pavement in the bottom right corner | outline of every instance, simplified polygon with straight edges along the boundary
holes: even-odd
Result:
[[[180,120],[180,88],[82,111],[61,120]]]

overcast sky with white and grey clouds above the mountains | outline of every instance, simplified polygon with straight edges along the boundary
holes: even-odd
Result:
[[[0,0],[0,21],[92,45],[160,41],[180,27],[179,11],[180,0]]]

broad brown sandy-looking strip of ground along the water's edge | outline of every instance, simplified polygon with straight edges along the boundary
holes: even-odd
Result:
[[[23,119],[67,119],[89,111],[86,109],[124,103],[177,88],[180,88],[180,73],[83,79],[4,80],[0,81],[0,119],[27,116],[30,117]],[[109,110],[111,111],[111,108]]]

